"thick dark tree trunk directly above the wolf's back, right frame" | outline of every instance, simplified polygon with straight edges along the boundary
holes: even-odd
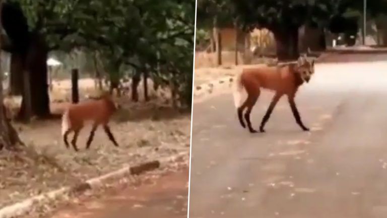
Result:
[[[277,46],[278,61],[294,61],[300,56],[298,50],[298,28],[272,30]]]

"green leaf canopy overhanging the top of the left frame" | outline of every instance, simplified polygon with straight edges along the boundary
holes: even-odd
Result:
[[[189,86],[195,0],[11,0],[48,50],[101,53],[113,74],[122,65]],[[160,73],[158,66],[168,71]],[[190,88],[189,88],[190,89]]]

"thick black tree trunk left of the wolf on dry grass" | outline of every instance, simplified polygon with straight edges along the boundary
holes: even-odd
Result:
[[[50,115],[48,84],[47,84],[47,55],[45,40],[41,35],[34,34],[26,60],[26,70],[30,75],[32,115],[46,118]],[[26,102],[23,98],[19,118],[26,113]]]

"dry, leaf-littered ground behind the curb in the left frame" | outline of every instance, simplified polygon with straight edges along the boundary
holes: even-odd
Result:
[[[63,87],[63,84],[59,87]],[[86,84],[90,84],[90,81]],[[80,82],[80,89],[81,95],[85,96],[93,88]],[[69,90],[69,87],[54,87],[50,97],[57,101],[69,96]],[[62,143],[59,119],[34,120],[28,125],[15,123],[21,139],[31,148],[28,150],[34,150],[37,154],[27,155],[26,151],[0,152],[0,208],[123,166],[188,152],[190,110],[179,112],[166,102],[168,99],[157,94],[147,103],[132,102],[128,96],[121,97],[122,108],[110,124],[119,147],[113,146],[104,131],[98,129],[90,149],[85,150],[91,129],[91,126],[87,126],[78,139],[80,151],[75,152]],[[61,113],[66,104],[52,102],[51,111]],[[187,164],[188,156],[185,161]]]

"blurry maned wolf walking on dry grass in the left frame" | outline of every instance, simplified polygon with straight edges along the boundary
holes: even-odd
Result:
[[[73,140],[71,141],[74,149],[77,151],[77,138],[81,129],[84,127],[85,121],[92,121],[93,128],[91,130],[86,148],[90,147],[91,141],[94,137],[94,132],[99,125],[102,125],[109,139],[118,146],[115,141],[108,122],[111,115],[116,111],[116,106],[109,95],[104,95],[98,100],[89,100],[80,102],[78,104],[71,104],[62,116],[62,136],[66,147],[69,148],[67,136],[74,132]]]

